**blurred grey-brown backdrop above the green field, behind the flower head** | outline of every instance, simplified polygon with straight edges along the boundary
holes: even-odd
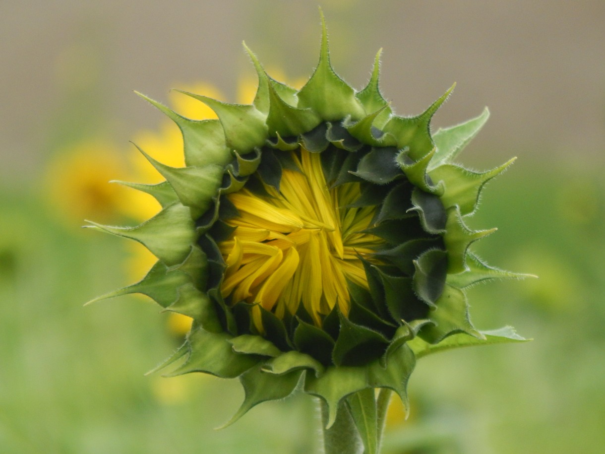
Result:
[[[489,151],[489,165],[538,154],[605,163],[603,1],[24,0],[0,7],[0,176],[35,176],[74,137],[125,143],[154,128],[159,114],[135,89],[166,100],[178,81],[204,80],[234,100],[239,74],[253,73],[244,39],[267,67],[309,76],[318,4],[350,84],[365,84],[384,48],[382,89],[397,113],[420,113],[454,81],[436,127],[488,105],[465,161]]]

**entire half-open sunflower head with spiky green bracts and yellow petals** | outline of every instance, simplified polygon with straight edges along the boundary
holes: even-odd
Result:
[[[267,76],[249,54],[259,79],[252,105],[185,93],[218,120],[191,120],[145,98],[182,131],[186,166],[141,150],[166,181],[130,186],[152,194],[162,211],[134,228],[93,226],[143,243],[158,262],[142,281],[97,299],[142,293],[192,317],[185,344],[166,364],[181,360],[174,375],[240,378],[246,397],[233,420],[299,389],[324,401],[327,426],[347,408],[375,452],[374,389],[394,390],[407,406],[417,357],[523,340],[512,329],[477,331],[465,296],[479,281],[522,277],[470,252],[493,229],[465,224],[483,185],[512,160],[485,173],[455,164],[488,110],[431,136],[431,117],[453,87],[419,116],[396,116],[379,91],[379,54],[367,87],[353,90],[330,65],[325,25],[319,64],[301,90]],[[299,182],[323,191],[324,211],[338,202],[338,226],[284,208],[292,194],[301,197],[292,206],[321,205],[296,192]],[[286,184],[298,189],[287,196]],[[267,219],[246,200],[269,207]],[[265,250],[275,254],[264,258]],[[368,408],[374,423],[364,417]]]

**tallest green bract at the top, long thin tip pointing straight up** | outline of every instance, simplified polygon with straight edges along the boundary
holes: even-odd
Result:
[[[365,117],[361,103],[355,97],[355,90],[336,75],[330,64],[328,35],[322,15],[322,38],[319,63],[315,72],[298,92],[298,107],[312,108],[327,121],[342,120],[350,115],[353,119]]]

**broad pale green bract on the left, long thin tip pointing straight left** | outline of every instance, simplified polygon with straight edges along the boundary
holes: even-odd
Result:
[[[113,227],[87,222],[92,224],[88,227],[142,243],[168,266],[185,260],[196,237],[191,211],[180,203],[166,206],[136,227]]]

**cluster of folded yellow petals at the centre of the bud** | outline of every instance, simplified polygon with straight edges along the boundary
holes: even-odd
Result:
[[[338,304],[348,314],[347,280],[368,287],[363,257],[382,240],[363,231],[375,206],[350,207],[359,183],[329,188],[318,153],[292,153],[299,171],[283,169],[279,191],[258,196],[246,188],[228,197],[240,215],[227,220],[234,233],[219,244],[226,263],[221,294],[231,302],[257,303],[278,318],[302,304],[317,326]],[[263,332],[260,311],[253,321]]]

